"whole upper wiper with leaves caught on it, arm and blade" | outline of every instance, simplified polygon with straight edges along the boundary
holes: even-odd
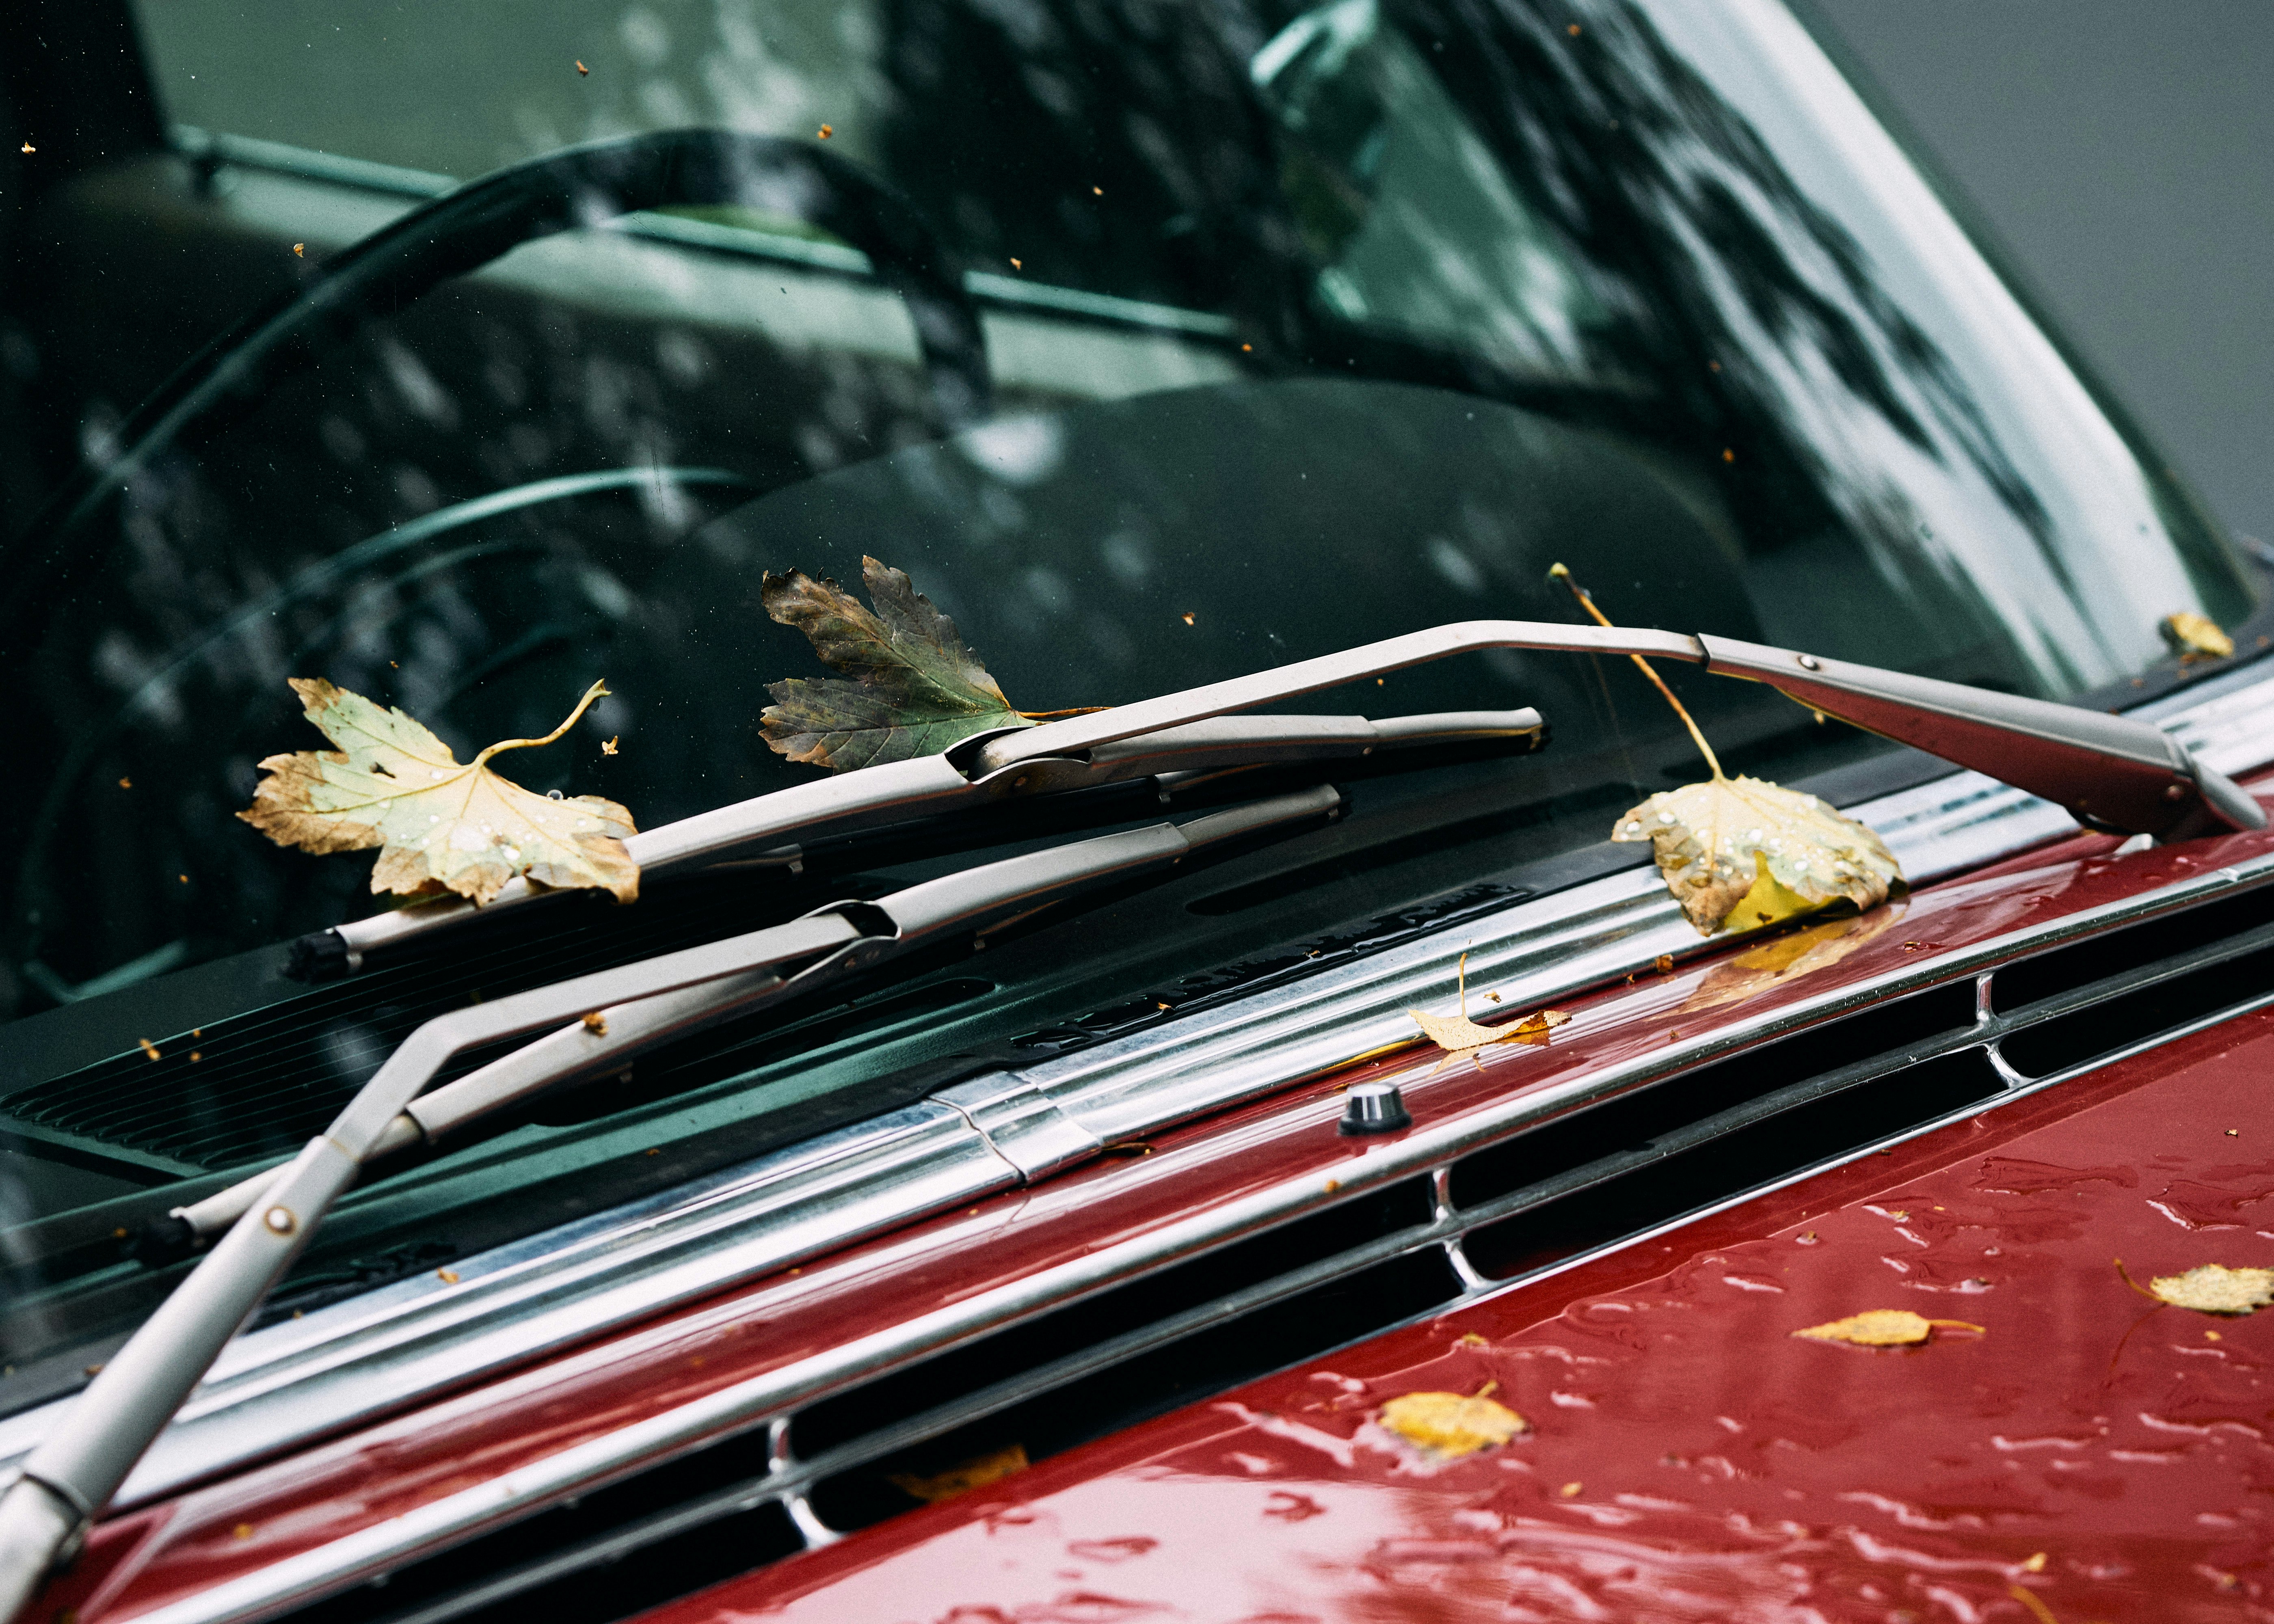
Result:
[[[1007,798],[1178,771],[1326,762],[1396,748],[1426,767],[1444,746],[1510,739],[1537,746],[1535,710],[1439,716],[1239,716],[1278,701],[1483,648],[1646,655],[1769,682],[1792,698],[1897,744],[2044,796],[2078,823],[2185,839],[2265,828],[2265,812],[2160,728],[2076,705],[1992,694],[1962,682],[1881,671],[1731,637],[1539,621],[1460,621],[1317,660],[1162,694],[1039,728],[964,739],[944,755],[866,767],[755,801],[700,812],[625,842],[644,869],[716,862],[735,851],[830,832],[930,819]],[[539,896],[521,880],[489,910]],[[489,912],[484,910],[484,912]],[[450,898],[357,919],[321,933],[318,958],[355,969],[362,955],[475,917]]]

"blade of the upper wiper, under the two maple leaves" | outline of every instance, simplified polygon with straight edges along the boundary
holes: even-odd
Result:
[[[1053,726],[1014,732],[1048,735]],[[698,812],[696,817],[641,830],[625,839],[641,873],[680,864],[716,864],[735,853],[771,848],[778,862],[800,855],[800,844],[873,828],[948,819],[960,812],[1005,801],[1035,801],[1076,789],[1128,785],[1142,778],[1192,782],[1194,778],[1248,767],[1283,767],[1303,762],[1344,762],[1394,751],[1401,762],[1426,767],[1446,751],[1467,746],[1512,746],[1535,751],[1546,739],[1537,710],[1462,710],[1428,716],[1221,716],[1148,728],[1142,737],[1117,737],[1080,753],[1039,751],[1003,769],[969,767],[971,753],[991,737],[964,739],[946,755],[921,755],[885,767],[864,767],[835,778],[819,778],[794,789],[778,789],[750,801]],[[530,903],[546,892],[525,880],[509,880],[484,908],[450,896],[414,908],[398,908],[368,919],[332,926],[296,944],[296,973],[327,978],[362,969],[364,955],[400,946],[432,930],[500,908]]]

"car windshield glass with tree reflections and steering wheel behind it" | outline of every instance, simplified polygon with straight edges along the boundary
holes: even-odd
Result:
[[[318,746],[289,678],[459,760],[607,678],[514,776],[650,828],[816,776],[760,735],[769,682],[821,676],[760,582],[864,555],[1035,712],[1578,621],[1555,562],[1621,623],[2094,705],[2176,680],[2165,616],[2265,641],[2231,544],[1771,0],[148,0],[75,27],[11,84],[5,182],[0,1012],[89,1012],[20,1021],[61,1037],[0,1080],[30,1212],[289,1153],[405,1012],[571,964],[323,994],[348,1001],[221,1064],[200,1012],[284,996],[227,967],[382,905],[368,860],[234,817],[264,757]],[[509,166],[553,216],[441,205],[387,275],[327,280]],[[1758,685],[1667,678],[1733,771],[1919,773]],[[1612,660],[1469,655],[1292,710],[1519,705],[1537,757],[1383,778],[1112,928],[682,1083],[794,1115],[1510,896],[1699,776]],[[907,873],[655,892],[628,912],[659,935],[609,951]],[[168,1085],[130,1087],[161,1049]],[[521,1133],[616,1130],[628,1099]],[[653,1144],[623,1135],[553,1176]]]

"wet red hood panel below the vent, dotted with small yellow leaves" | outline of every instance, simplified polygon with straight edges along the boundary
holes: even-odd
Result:
[[[2274,1265],[2274,1014],[2063,1092],[650,1619],[2026,1619],[2015,1585],[2067,1624],[2274,1617],[2274,1312],[2110,1262]],[[2217,1233],[2149,1199],[2178,1183]],[[1985,1335],[1792,1337],[1865,1308]],[[1503,1449],[1433,1467],[1373,1422],[1487,1381],[1533,1424]]]

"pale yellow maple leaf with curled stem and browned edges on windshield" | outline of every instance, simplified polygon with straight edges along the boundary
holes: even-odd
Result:
[[[487,903],[514,876],[559,889],[639,896],[639,864],[623,848],[632,814],[600,796],[555,801],[489,771],[500,751],[553,744],[607,694],[594,682],[568,721],[541,739],[505,739],[459,764],[450,746],[400,710],[314,678],[293,678],[302,714],[337,751],[271,755],[239,812],[277,846],[380,848],[373,892],[457,892]]]

